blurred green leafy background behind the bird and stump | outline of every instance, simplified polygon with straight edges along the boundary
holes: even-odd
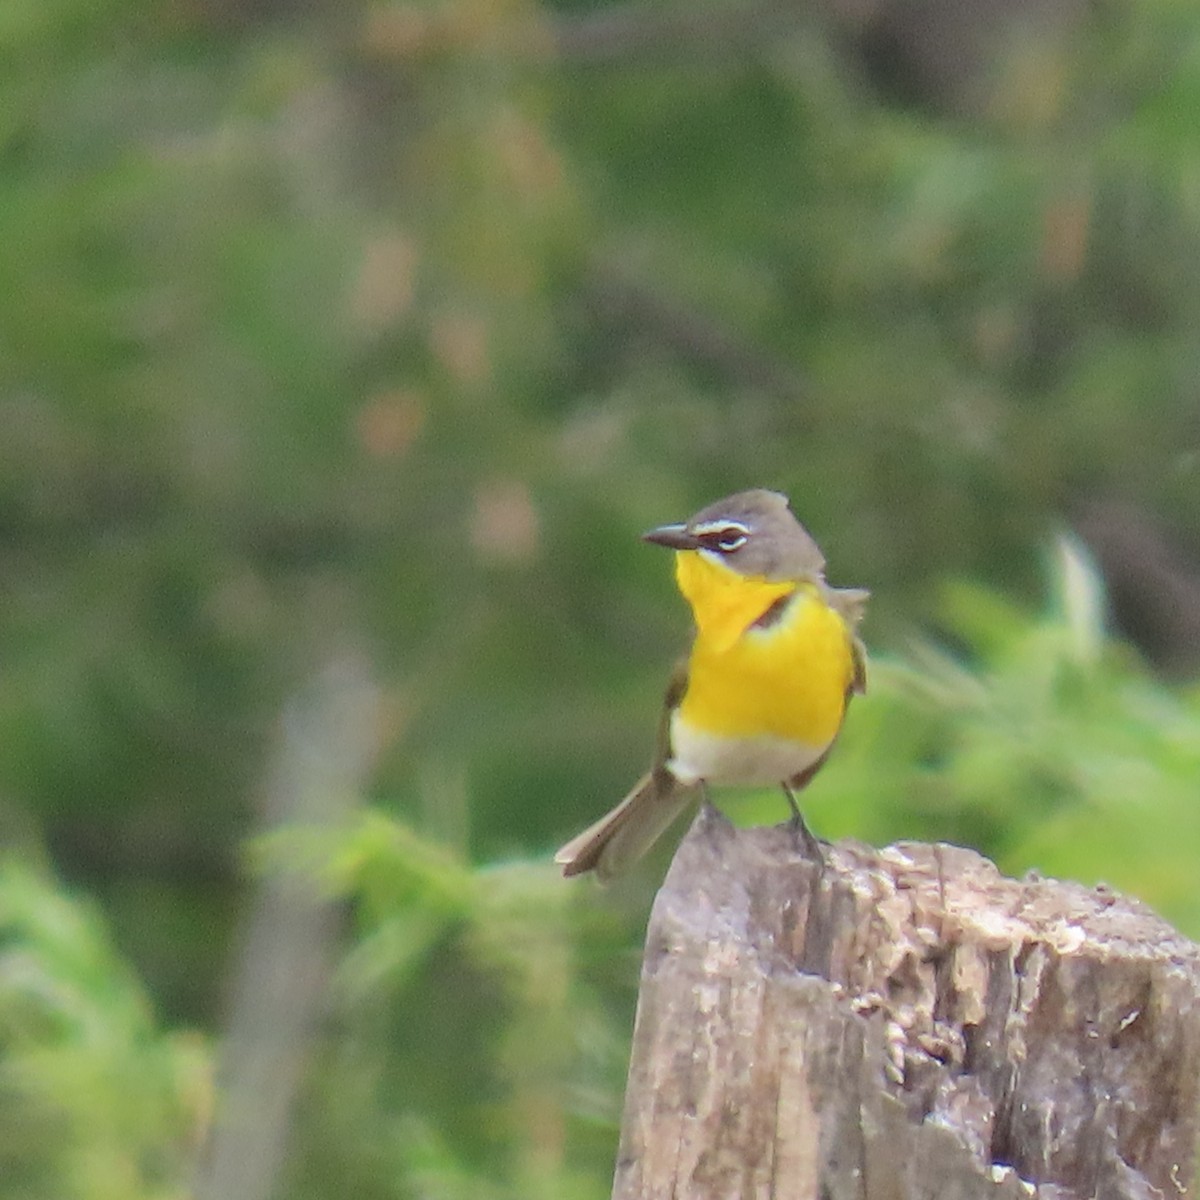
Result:
[[[781,488],[806,793],[1200,934],[1200,10],[5,0],[0,1196],[608,1194],[551,851]],[[731,799],[780,820],[775,796]]]

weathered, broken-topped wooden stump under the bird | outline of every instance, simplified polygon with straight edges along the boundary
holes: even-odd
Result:
[[[614,1200],[1190,1193],[1200,948],[954,846],[702,808],[647,932]]]

